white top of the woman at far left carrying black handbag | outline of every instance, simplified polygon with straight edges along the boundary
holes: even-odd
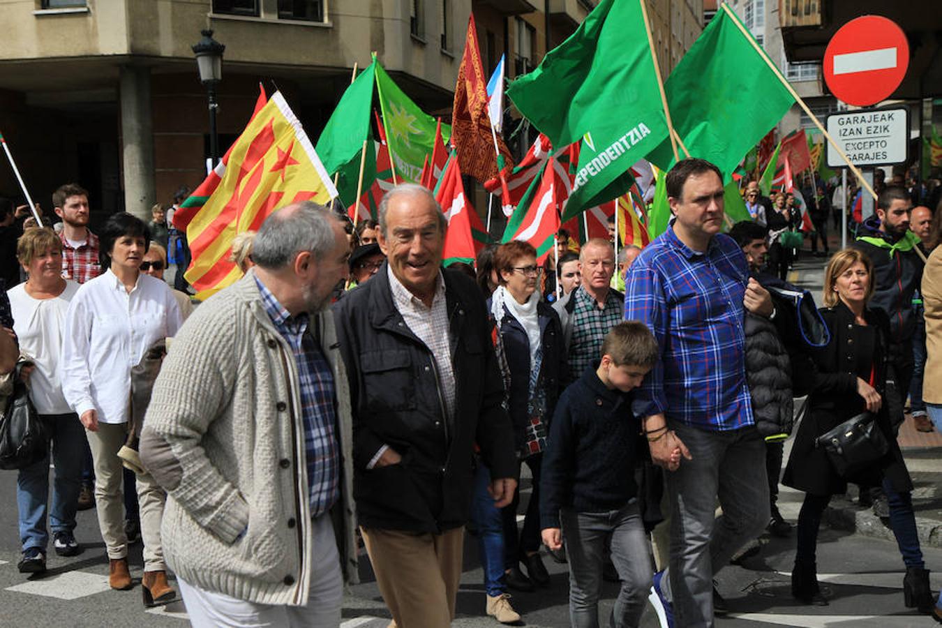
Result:
[[[62,357],[62,333],[69,301],[78,291],[78,283],[66,280],[65,290],[54,298],[32,298],[26,284],[7,292],[13,314],[13,330],[20,339],[20,350],[36,362],[29,378],[30,396],[40,414],[65,414],[72,408],[62,395],[59,359]]]

